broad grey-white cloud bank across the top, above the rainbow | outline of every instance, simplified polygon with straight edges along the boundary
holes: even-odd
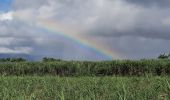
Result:
[[[167,21],[170,7],[160,7],[168,5],[167,0],[41,0],[40,2],[16,0],[15,2],[14,8],[19,7],[19,4],[25,4],[17,8],[16,12],[30,22],[36,22],[36,18],[54,20],[84,35],[170,39]],[[145,4],[149,5],[145,7],[143,6]]]

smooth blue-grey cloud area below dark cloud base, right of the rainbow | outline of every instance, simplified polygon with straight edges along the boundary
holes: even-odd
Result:
[[[160,53],[168,53],[170,40],[143,37],[105,37],[103,41],[125,59],[157,58]]]

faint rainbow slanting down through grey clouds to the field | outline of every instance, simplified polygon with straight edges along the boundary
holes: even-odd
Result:
[[[19,14],[14,14],[14,17],[17,20],[20,20],[25,23],[29,23],[28,19],[21,18]],[[69,39],[79,44],[80,46],[85,47],[86,49],[95,51],[99,55],[104,55],[110,60],[123,58],[122,55],[117,51],[112,50],[111,48],[102,44],[99,41],[86,37],[85,35],[64,26],[60,22],[37,18],[36,23],[38,23],[36,25],[38,28],[45,29],[49,33],[55,33],[57,35],[60,35],[66,39]]]

